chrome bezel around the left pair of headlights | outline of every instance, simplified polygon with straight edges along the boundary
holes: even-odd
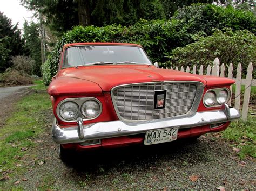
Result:
[[[88,100],[93,100],[93,101],[96,101],[98,104],[99,104],[99,114],[93,118],[86,118],[83,114],[82,114],[82,105],[84,102],[88,101]],[[79,112],[78,112],[78,115],[76,116],[76,118],[72,119],[72,120],[66,120],[65,118],[63,118],[61,115],[60,115],[60,112],[59,112],[59,109],[60,109],[60,106],[65,103],[65,102],[74,102],[78,105],[78,108],[79,108]],[[100,116],[100,114],[102,114],[102,103],[95,97],[74,97],[74,98],[65,98],[64,100],[60,101],[56,107],[56,114],[58,116],[58,118],[63,121],[63,122],[76,122],[77,121],[77,117],[82,117],[83,121],[88,121],[88,120],[92,120],[92,119],[95,119],[97,117]]]

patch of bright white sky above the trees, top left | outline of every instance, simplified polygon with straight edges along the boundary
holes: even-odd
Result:
[[[13,25],[19,22],[19,29],[23,28],[25,20],[30,21],[33,16],[31,11],[21,5],[20,0],[0,0],[0,11],[11,19]],[[33,21],[36,22],[36,19],[34,18]]]

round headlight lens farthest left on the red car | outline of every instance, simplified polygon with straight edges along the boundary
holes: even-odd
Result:
[[[79,115],[79,107],[75,102],[64,102],[59,107],[59,114],[63,119],[70,121]]]

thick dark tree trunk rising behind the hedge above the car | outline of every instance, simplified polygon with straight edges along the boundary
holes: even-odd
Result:
[[[77,0],[79,25],[91,24],[90,0]]]

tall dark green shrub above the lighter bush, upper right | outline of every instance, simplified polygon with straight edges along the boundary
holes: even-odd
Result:
[[[256,17],[251,11],[227,8],[211,4],[193,4],[179,9],[172,17],[172,22],[180,29],[181,44],[189,44],[192,39],[183,36],[204,32],[207,36],[213,29],[229,27],[232,30],[248,30],[256,34]]]

